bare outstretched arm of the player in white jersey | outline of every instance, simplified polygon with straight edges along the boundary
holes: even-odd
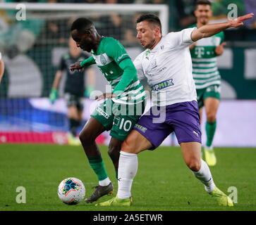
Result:
[[[228,27],[240,27],[243,26],[243,20],[248,20],[253,17],[253,13],[249,13],[246,15],[242,15],[234,20],[228,20],[224,23],[215,23],[215,24],[209,24],[204,25],[197,30],[194,30],[191,33],[191,39],[193,41],[197,41],[199,39],[202,39],[204,37],[211,37],[214,34],[217,34],[223,30],[226,30]]]

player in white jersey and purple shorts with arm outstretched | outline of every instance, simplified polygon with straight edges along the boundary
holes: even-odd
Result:
[[[150,108],[150,112],[140,117],[122,143],[116,197],[97,205],[130,206],[130,189],[138,170],[138,153],[143,150],[154,150],[174,131],[186,165],[204,184],[205,190],[219,205],[233,206],[232,200],[215,186],[209,167],[200,156],[200,116],[189,46],[228,27],[240,27],[243,20],[252,17],[253,13],[250,13],[226,23],[170,32],[164,37],[157,16],[147,14],[138,18],[137,38],[146,50],[140,53],[133,63],[138,77],[147,77],[148,83],[152,86],[155,104]]]

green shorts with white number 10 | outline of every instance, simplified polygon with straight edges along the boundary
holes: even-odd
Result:
[[[98,120],[110,136],[124,141],[145,110],[145,101],[135,105],[114,103],[110,98],[101,103],[91,117]]]

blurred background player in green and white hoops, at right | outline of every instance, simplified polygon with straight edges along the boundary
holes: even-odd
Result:
[[[209,24],[209,18],[212,16],[211,5],[211,2],[207,0],[197,1],[195,8],[197,23],[191,27],[200,28]],[[205,106],[207,116],[205,125],[207,142],[204,150],[205,161],[209,166],[214,166],[217,162],[212,146],[217,127],[216,115],[221,92],[221,76],[217,68],[217,56],[224,52],[224,45],[226,45],[224,32],[219,32],[212,37],[200,39],[190,46],[200,122],[202,122],[203,106]]]

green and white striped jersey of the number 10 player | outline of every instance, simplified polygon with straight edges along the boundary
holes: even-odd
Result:
[[[91,53],[99,70],[101,70],[111,85],[112,91],[114,91],[123,75],[123,70],[119,67],[119,63],[126,58],[130,58],[126,49],[116,39],[103,37],[97,48],[97,52],[92,51]],[[112,100],[116,103],[132,105],[134,103],[140,103],[145,97],[145,90],[136,75],[130,84],[126,85],[124,91],[118,94],[116,98],[112,98]]]

